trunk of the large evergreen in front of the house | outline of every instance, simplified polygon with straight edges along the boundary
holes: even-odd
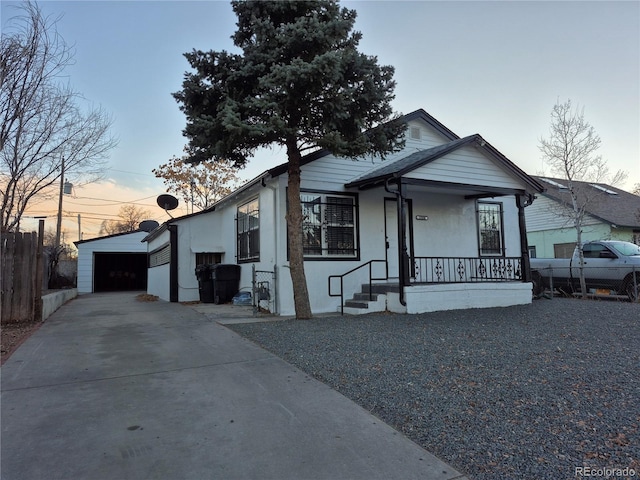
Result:
[[[300,160],[302,155],[295,139],[287,139],[289,181],[287,189],[287,242],[289,266],[293,283],[293,302],[297,319],[311,318],[311,305],[307,279],[304,274],[304,250],[302,244],[302,206],[300,204]]]

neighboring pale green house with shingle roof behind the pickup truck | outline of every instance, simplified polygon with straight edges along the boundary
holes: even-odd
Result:
[[[576,245],[566,180],[534,177],[546,190],[527,208],[527,238],[532,257],[569,258]],[[582,240],[623,240],[640,245],[640,196],[603,183],[575,182],[585,205]]]

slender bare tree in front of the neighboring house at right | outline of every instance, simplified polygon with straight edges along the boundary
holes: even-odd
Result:
[[[571,100],[559,101],[551,111],[549,137],[540,139],[542,158],[553,174],[566,181],[570,198],[568,208],[558,212],[566,216],[576,230],[579,252],[580,290],[586,298],[582,228],[589,204],[595,199],[596,189],[587,190],[584,183],[618,184],[627,174],[621,170],[610,174],[606,160],[597,154],[602,141],[595,129],[584,118],[584,109],[573,108]],[[586,184],[588,185],[588,184]]]

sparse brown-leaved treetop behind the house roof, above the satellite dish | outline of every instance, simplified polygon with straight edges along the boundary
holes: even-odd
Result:
[[[167,192],[182,197],[186,205],[204,210],[231,193],[238,185],[237,169],[231,162],[202,162],[190,164],[188,157],[172,158],[167,163],[154,168],[152,172],[162,178]]]

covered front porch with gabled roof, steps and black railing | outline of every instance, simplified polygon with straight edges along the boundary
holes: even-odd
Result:
[[[363,301],[369,311],[403,313],[531,302],[524,209],[541,186],[479,135],[418,151],[345,187],[385,192],[387,250],[368,262],[370,272],[384,264],[384,274],[370,273],[343,311],[363,313],[352,310]],[[366,269],[347,274],[358,270]]]

